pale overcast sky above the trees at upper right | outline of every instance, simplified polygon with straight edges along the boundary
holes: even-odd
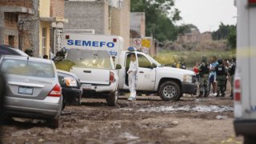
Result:
[[[198,26],[200,32],[218,30],[220,22],[236,24],[237,8],[234,0],[175,0],[181,11],[182,23]]]

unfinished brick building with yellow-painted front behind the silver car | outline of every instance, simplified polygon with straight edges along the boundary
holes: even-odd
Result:
[[[0,20],[0,44],[50,55],[50,36],[66,22],[64,0],[0,0]]]

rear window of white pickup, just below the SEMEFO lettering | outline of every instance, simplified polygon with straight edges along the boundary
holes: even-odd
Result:
[[[76,67],[112,69],[110,55],[104,50],[71,49],[68,51],[66,58],[74,62]]]

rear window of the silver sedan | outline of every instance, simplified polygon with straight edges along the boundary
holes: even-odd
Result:
[[[54,67],[43,62],[17,59],[4,59],[1,70],[6,74],[18,74],[33,77],[54,78]]]

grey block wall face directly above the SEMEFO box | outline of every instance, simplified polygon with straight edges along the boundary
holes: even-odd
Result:
[[[95,34],[105,34],[109,30],[107,1],[83,2],[66,1],[65,18],[69,20],[65,23],[65,29],[92,29]]]

